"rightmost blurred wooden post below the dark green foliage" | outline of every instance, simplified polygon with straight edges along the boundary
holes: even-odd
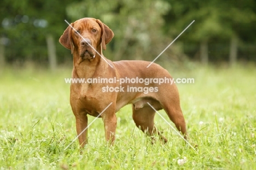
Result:
[[[234,66],[237,60],[237,46],[238,46],[238,38],[233,35],[230,40],[230,48],[229,48],[229,64]]]

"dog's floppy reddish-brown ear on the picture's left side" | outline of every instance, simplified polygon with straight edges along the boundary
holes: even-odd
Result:
[[[71,26],[74,26],[74,23],[71,23]],[[61,35],[59,42],[61,45],[63,45],[64,47],[68,48],[69,50],[71,50],[71,53],[73,54],[73,42],[72,42],[72,35],[71,35],[71,31],[72,31],[72,27],[68,26],[67,29],[64,31],[64,33]]]

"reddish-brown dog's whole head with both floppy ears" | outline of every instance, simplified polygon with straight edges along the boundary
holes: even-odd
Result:
[[[106,50],[106,44],[114,37],[114,33],[100,20],[83,18],[71,23],[60,37],[60,44],[78,52],[83,59],[93,59],[97,48],[101,45]]]

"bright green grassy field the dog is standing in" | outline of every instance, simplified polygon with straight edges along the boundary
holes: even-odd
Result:
[[[152,145],[135,126],[129,105],[117,113],[114,147],[106,147],[97,119],[83,154],[78,140],[64,150],[76,137],[64,81],[71,69],[0,71],[0,169],[256,169],[255,66],[191,66],[170,73],[195,78],[177,86],[196,151],[157,114],[155,124],[168,143]]]

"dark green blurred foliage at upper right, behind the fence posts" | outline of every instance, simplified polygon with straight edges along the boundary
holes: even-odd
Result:
[[[240,41],[238,59],[245,59],[247,56],[250,58],[249,60],[255,61],[255,55],[252,54],[255,53],[255,50],[249,47],[255,46],[256,42],[256,28],[254,27],[256,5],[254,1],[168,2],[171,4],[171,10],[164,16],[167,34],[177,35],[184,29],[184,26],[195,20],[186,31],[185,36],[178,39],[184,43],[184,53],[188,54],[190,58],[199,59],[199,43],[202,40],[207,40],[209,43],[208,55],[211,61],[228,60],[230,39],[235,36]]]

